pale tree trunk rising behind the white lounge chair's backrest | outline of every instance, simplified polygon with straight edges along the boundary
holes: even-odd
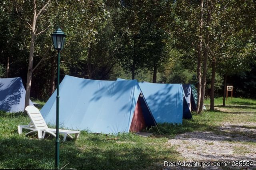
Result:
[[[36,0],[33,2],[34,5],[34,14],[32,20],[32,30],[31,30],[31,39],[30,39],[30,52],[29,52],[29,61],[28,61],[28,73],[27,73],[27,84],[26,84],[26,96],[25,96],[25,108],[29,106],[31,82],[32,82],[32,70],[33,70],[33,59],[34,59],[34,43],[36,39]]]

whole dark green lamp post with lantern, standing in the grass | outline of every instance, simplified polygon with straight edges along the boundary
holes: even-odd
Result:
[[[60,164],[60,138],[59,138],[59,106],[60,106],[60,96],[59,96],[59,85],[60,85],[60,51],[63,49],[65,42],[65,33],[60,29],[56,29],[52,33],[52,41],[54,49],[58,50],[58,66],[57,66],[57,96],[56,96],[56,144],[55,144],[55,169],[59,169]]]

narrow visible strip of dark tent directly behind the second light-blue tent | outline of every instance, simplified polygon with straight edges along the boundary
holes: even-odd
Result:
[[[192,111],[196,111],[196,102],[192,92],[191,84],[182,84],[188,107]]]

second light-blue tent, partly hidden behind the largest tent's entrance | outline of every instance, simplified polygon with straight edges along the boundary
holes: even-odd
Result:
[[[157,123],[182,123],[182,119],[192,118],[182,84],[140,82],[139,86]]]

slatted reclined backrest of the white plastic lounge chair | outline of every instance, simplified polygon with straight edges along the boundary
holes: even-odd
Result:
[[[35,106],[27,106],[25,110],[28,113],[28,116],[31,119],[35,129],[48,129],[48,126],[38,108]]]

